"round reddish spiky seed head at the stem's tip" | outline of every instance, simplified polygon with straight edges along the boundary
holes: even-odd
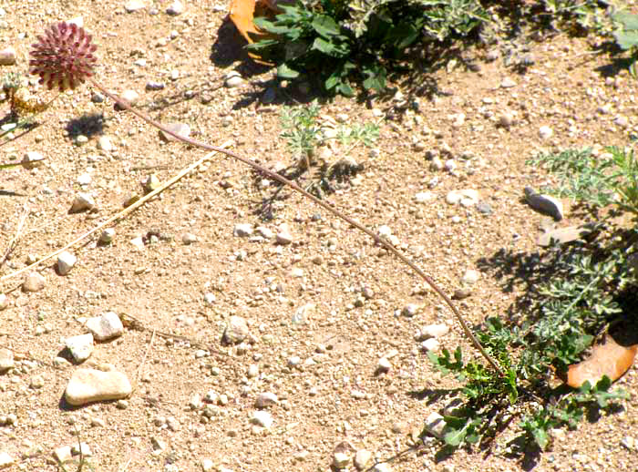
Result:
[[[75,88],[93,75],[98,48],[91,44],[92,37],[84,28],[60,22],[49,26],[45,36],[37,36],[32,45],[29,66],[31,74],[40,76],[40,84],[60,92]]]

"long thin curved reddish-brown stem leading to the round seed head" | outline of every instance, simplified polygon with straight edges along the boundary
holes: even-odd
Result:
[[[365,234],[367,234],[373,240],[375,240],[376,243],[382,245],[384,248],[386,248],[387,251],[392,252],[396,256],[396,258],[398,258],[401,262],[403,262],[406,265],[408,265],[410,267],[410,269],[412,269],[414,272],[417,272],[417,274],[424,281],[426,281],[427,284],[430,287],[432,287],[432,289],[435,292],[437,292],[438,296],[440,296],[445,301],[445,303],[448,305],[449,309],[454,314],[455,318],[457,318],[458,323],[461,325],[461,328],[463,329],[463,333],[465,333],[465,335],[468,337],[469,341],[474,345],[474,347],[478,350],[478,352],[485,358],[485,360],[488,361],[489,365],[491,365],[492,368],[497,373],[499,373],[500,376],[504,376],[504,373],[503,373],[502,369],[500,368],[499,364],[494,359],[492,359],[492,357],[487,353],[487,351],[483,348],[483,346],[478,342],[477,337],[471,332],[471,330],[468,327],[468,323],[465,322],[465,320],[461,316],[461,313],[458,312],[457,308],[454,306],[454,303],[452,303],[452,301],[450,300],[448,295],[445,292],[443,292],[443,290],[441,288],[438,287],[437,283],[434,282],[434,280],[429,275],[427,275],[426,272],[423,272],[421,269],[419,269],[414,262],[411,262],[409,259],[407,259],[406,256],[401,251],[398,251],[395,248],[395,246],[393,246],[389,241],[386,241],[385,238],[381,238],[375,232],[368,230],[367,228],[365,228],[365,226],[363,226],[362,224],[354,221],[352,218],[346,216],[341,211],[336,210],[332,205],[330,205],[329,203],[326,203],[324,200],[320,200],[320,199],[316,198],[314,195],[308,193],[307,191],[305,191],[304,189],[299,187],[292,180],[288,180],[285,177],[283,177],[282,175],[280,175],[280,174],[278,174],[276,172],[273,172],[272,170],[266,169],[266,168],[262,167],[261,165],[253,162],[251,159],[244,158],[244,157],[242,157],[242,156],[240,156],[238,154],[235,154],[234,152],[232,152],[232,151],[230,151],[228,149],[218,148],[216,146],[211,146],[210,144],[206,144],[206,143],[203,143],[201,141],[197,141],[195,139],[191,139],[191,138],[187,138],[187,137],[184,137],[184,136],[180,136],[178,133],[175,133],[175,132],[171,131],[169,128],[166,128],[159,121],[156,121],[153,118],[149,118],[149,116],[147,116],[146,114],[144,114],[144,113],[140,112],[139,110],[131,107],[130,104],[126,100],[123,100],[122,98],[120,98],[120,97],[116,96],[115,94],[112,94],[111,92],[109,92],[105,87],[102,87],[94,78],[89,77],[88,81],[94,87],[98,88],[98,90],[100,90],[104,95],[106,95],[111,100],[116,102],[120,108],[124,108],[124,109],[130,111],[131,113],[133,113],[137,117],[139,117],[139,118],[143,119],[144,121],[146,121],[147,123],[149,123],[149,125],[151,125],[151,126],[153,126],[155,128],[161,129],[164,133],[172,136],[175,139],[179,139],[180,141],[182,141],[184,143],[190,144],[191,146],[196,146],[198,148],[207,149],[207,150],[210,150],[210,151],[221,152],[222,154],[225,154],[225,155],[231,157],[232,159],[239,160],[240,162],[243,162],[247,166],[252,167],[252,169],[255,169],[258,172],[268,176],[268,178],[270,178],[272,180],[276,180],[279,183],[281,183],[283,185],[286,185],[286,186],[290,187],[291,189],[301,193],[306,199],[314,201],[314,203],[316,203],[320,207],[324,208],[324,210],[330,211],[331,213],[334,214],[334,216],[336,216],[337,218],[340,218],[341,220],[343,220],[343,221],[347,222],[348,224],[354,226],[357,230],[365,232]]]

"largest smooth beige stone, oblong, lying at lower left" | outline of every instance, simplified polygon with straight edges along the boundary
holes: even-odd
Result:
[[[77,369],[68,381],[65,398],[70,405],[79,406],[126,398],[131,392],[129,378],[121,372]]]

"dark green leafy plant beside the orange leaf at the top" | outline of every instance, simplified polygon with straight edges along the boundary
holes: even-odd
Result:
[[[283,5],[274,19],[255,24],[275,35],[248,46],[277,61],[278,77],[319,77],[328,94],[386,88],[388,71],[418,41],[468,36],[488,20],[478,0],[321,0]]]

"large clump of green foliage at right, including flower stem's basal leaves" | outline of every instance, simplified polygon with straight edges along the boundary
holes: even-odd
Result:
[[[428,354],[462,384],[463,403],[444,416],[448,447],[487,442],[518,416],[519,437],[545,449],[551,429],[574,428],[592,408],[609,410],[628,398],[612,391],[607,377],[580,389],[551,387],[551,379],[578,363],[611,323],[632,322],[626,313],[638,293],[638,229],[616,221],[623,214],[638,217],[638,160],[633,149],[608,148],[598,158],[591,149],[576,149],[540,154],[529,163],[558,176],[557,188],[546,191],[581,202],[596,218],[599,236],[547,251],[544,269],[551,277],[530,294],[523,322],[485,321],[477,337],[502,376],[478,360],[465,361],[460,348]]]

